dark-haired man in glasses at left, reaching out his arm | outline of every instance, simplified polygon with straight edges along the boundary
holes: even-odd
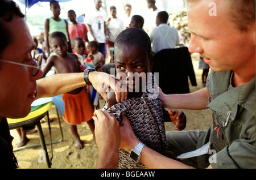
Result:
[[[24,15],[15,2],[0,1],[0,168],[15,168],[9,127],[6,118],[22,118],[30,113],[31,103],[40,97],[53,97],[92,83],[105,98],[104,88],[115,89],[113,76],[86,70],[85,73],[42,77],[41,57],[34,58],[34,41]],[[38,80],[39,79],[39,80]],[[111,80],[113,79],[113,80]],[[117,86],[118,87],[118,86]],[[125,93],[116,93],[117,101]]]

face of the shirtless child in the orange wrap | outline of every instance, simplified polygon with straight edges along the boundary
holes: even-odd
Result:
[[[65,57],[68,53],[68,43],[65,41],[64,38],[61,37],[55,37],[51,38],[50,46],[57,55],[60,57]]]

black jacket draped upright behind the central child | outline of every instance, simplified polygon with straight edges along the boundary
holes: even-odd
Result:
[[[166,94],[189,93],[188,76],[192,85],[197,85],[187,47],[163,49],[156,53],[152,72],[159,72],[159,87]]]

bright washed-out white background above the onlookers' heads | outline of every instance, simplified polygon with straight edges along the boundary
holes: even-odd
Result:
[[[20,7],[22,12],[26,13],[26,19],[28,24],[33,27],[39,28],[40,31],[44,31],[44,22],[47,18],[52,16],[52,11],[49,8],[49,2],[38,2],[31,8],[27,8],[18,0],[14,0]],[[117,16],[122,18],[124,15],[123,7],[126,3],[130,3],[132,7],[131,15],[141,15],[143,18],[147,15],[148,8],[146,0],[102,0],[102,8],[106,14],[109,15],[109,7],[117,7]],[[68,2],[60,2],[61,14],[60,18],[68,20],[67,12],[74,10],[77,18],[81,21],[95,7],[94,0],[71,0]],[[184,0],[156,0],[156,7],[160,10],[165,10],[168,14],[177,14],[177,12],[184,10]],[[152,11],[152,9],[151,9]]]

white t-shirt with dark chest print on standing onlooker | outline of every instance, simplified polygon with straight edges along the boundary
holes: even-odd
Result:
[[[91,26],[92,32],[94,37],[99,43],[105,43],[106,42],[106,36],[105,36],[105,23],[106,15],[105,12],[102,10],[97,10],[95,8],[94,11],[86,13],[84,23],[89,24]],[[90,33],[88,34],[88,38],[90,41],[92,41],[92,37],[90,36]]]

